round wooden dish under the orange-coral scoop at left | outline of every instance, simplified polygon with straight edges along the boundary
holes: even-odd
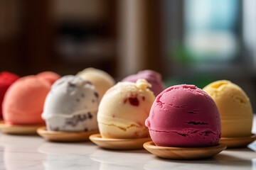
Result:
[[[8,125],[4,122],[0,123],[0,130],[11,135],[36,135],[36,130],[41,125]]]

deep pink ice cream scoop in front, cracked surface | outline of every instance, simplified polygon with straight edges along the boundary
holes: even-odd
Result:
[[[194,85],[162,91],[145,124],[153,142],[164,147],[208,147],[218,145],[221,136],[215,102]]]

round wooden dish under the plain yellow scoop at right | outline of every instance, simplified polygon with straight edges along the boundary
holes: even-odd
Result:
[[[228,148],[247,147],[250,143],[256,140],[256,135],[250,137],[221,137],[220,142],[228,146]]]

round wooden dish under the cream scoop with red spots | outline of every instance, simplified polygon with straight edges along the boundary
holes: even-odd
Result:
[[[150,137],[138,139],[109,139],[102,138],[100,134],[90,135],[90,140],[105,149],[132,150],[143,149],[144,142],[150,141]]]

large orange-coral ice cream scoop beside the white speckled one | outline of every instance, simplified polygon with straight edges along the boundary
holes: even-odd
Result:
[[[41,113],[49,91],[48,81],[36,76],[22,77],[15,81],[4,97],[5,123],[13,125],[44,123]]]

